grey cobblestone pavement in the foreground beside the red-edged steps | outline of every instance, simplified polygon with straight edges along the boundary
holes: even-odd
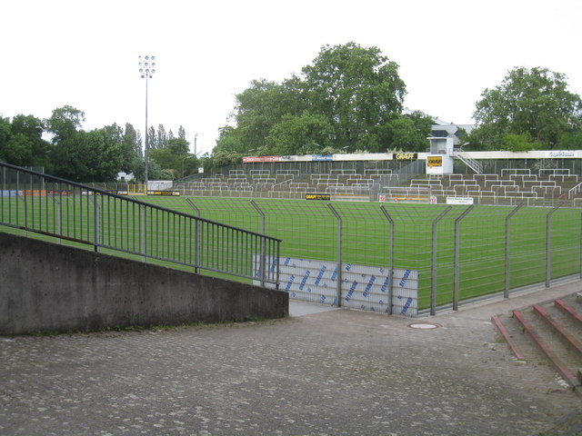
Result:
[[[0,434],[539,434],[582,418],[582,402],[547,365],[517,362],[490,317],[579,286],[415,320],[432,330],[315,309],[273,322],[0,337]]]

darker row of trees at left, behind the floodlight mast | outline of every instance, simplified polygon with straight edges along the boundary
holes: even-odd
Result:
[[[19,114],[0,116],[0,161],[42,167],[45,173],[75,182],[112,182],[117,173],[133,173],[143,180],[145,162],[142,137],[132,124],[117,124],[85,132],[85,113],[65,105],[45,120]],[[163,124],[148,128],[148,178],[173,180],[195,173],[197,158],[188,154],[186,131],[166,133]],[[185,159],[188,158],[188,159]]]

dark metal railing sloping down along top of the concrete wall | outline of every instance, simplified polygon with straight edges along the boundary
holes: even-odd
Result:
[[[277,238],[6,163],[0,163],[0,224],[95,251],[278,285],[278,265],[268,264],[279,256]]]

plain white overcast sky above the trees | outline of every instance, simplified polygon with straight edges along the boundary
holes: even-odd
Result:
[[[375,45],[399,64],[405,105],[469,124],[515,66],[567,74],[582,94],[580,0],[19,0],[2,5],[0,114],[65,104],[85,130],[146,124],[139,54],[156,55],[148,124],[210,152],[235,94],[300,74],[322,45]]]

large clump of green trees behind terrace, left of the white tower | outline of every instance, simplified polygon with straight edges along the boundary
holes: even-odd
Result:
[[[221,132],[214,157],[233,163],[253,152],[385,150],[386,124],[399,116],[406,94],[397,69],[376,47],[326,45],[301,77],[256,80],[237,94],[236,126]]]

